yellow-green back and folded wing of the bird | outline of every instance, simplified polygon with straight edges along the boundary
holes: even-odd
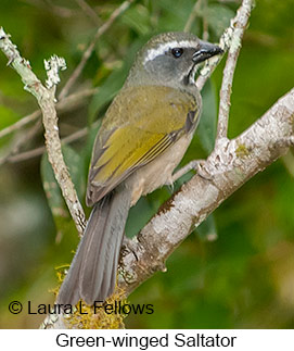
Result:
[[[172,88],[148,86],[120,91],[95,140],[88,205],[189,133],[197,115],[195,98]]]

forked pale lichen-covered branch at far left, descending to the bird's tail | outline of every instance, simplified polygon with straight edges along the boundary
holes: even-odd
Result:
[[[38,101],[42,112],[49,161],[76,227],[82,234],[86,226],[86,217],[63,160],[55,109],[55,87],[59,83],[57,71],[65,66],[65,62],[56,57],[47,62],[48,79],[47,87],[44,87],[31,71],[29,62],[21,57],[16,46],[12,43],[9,37],[3,28],[0,28],[0,50],[7,55],[9,64],[21,76],[25,90],[34,95]]]

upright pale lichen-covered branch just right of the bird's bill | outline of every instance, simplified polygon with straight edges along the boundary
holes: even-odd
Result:
[[[217,140],[227,138],[228,135],[228,123],[230,113],[230,100],[232,91],[232,82],[237,60],[241,49],[241,40],[246,29],[247,22],[251,15],[252,0],[243,0],[242,5],[238,10],[237,16],[231,21],[228,39],[222,37],[227,43],[229,41],[229,52],[226,66],[223,70],[222,84],[220,88],[220,101],[219,101],[219,113],[218,113],[218,126],[217,126]],[[229,29],[230,29],[229,28]]]

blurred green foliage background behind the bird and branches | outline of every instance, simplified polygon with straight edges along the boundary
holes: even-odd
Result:
[[[210,41],[218,41],[240,2],[199,1],[191,32],[202,36],[206,30]],[[64,57],[68,66],[62,73],[64,84],[98,23],[105,22],[122,1],[88,3],[98,14],[95,21],[75,1],[1,0],[0,25],[12,35],[41,79],[43,59],[52,53]],[[60,114],[62,136],[89,126],[87,138],[64,147],[82,203],[97,131],[92,122],[103,116],[122,87],[138,49],[154,34],[182,30],[194,4],[195,0],[138,0],[95,46],[73,91],[97,86],[98,93],[82,106]],[[293,87],[292,8],[292,0],[256,2],[234,75],[230,137],[242,133]],[[223,63],[225,60],[202,92],[201,125],[182,164],[205,158],[213,149]],[[20,77],[5,65],[0,54],[1,129],[37,109]],[[27,130],[2,138],[0,156]],[[22,151],[42,143],[38,134],[27,140]],[[294,327],[293,159],[290,152],[286,159],[254,177],[187,238],[168,259],[167,273],[156,273],[129,298],[131,303],[154,304],[154,314],[130,315],[127,327]],[[191,176],[192,172],[182,177],[175,189]],[[12,300],[31,300],[34,305],[53,303],[54,296],[49,290],[57,286],[55,269],[71,262],[77,233],[46,155],[1,165],[0,186],[0,325],[38,327],[43,316],[24,312],[11,315],[8,304]],[[142,198],[130,211],[127,234],[136,235],[170,193],[171,189],[164,187]]]

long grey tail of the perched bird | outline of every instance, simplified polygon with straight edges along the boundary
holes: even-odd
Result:
[[[94,205],[57,303],[74,305],[82,299],[92,304],[112,294],[129,208],[127,189],[113,191]]]

